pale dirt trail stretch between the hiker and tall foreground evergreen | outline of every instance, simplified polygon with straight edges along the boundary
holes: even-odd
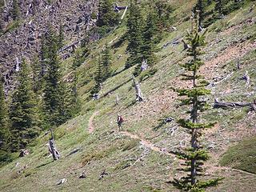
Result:
[[[156,152],[159,152],[159,153],[162,153],[162,154],[166,154],[166,155],[175,157],[174,154],[170,154],[167,151],[163,150],[162,148],[154,146],[154,144],[152,142],[146,141],[144,138],[141,138],[141,137],[139,137],[136,134],[131,134],[131,133],[127,132],[127,131],[121,131],[120,134],[125,135],[125,136],[130,137],[130,138],[134,138],[134,139],[140,140],[142,145],[148,147],[150,150],[154,150]]]

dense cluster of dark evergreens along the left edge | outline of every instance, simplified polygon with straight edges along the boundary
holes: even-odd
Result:
[[[58,58],[62,40],[62,30],[56,35],[49,28],[42,37],[39,58],[30,64],[22,60],[9,106],[1,81],[0,152],[5,151],[0,153],[1,161],[9,152],[26,148],[40,131],[59,126],[79,112],[77,66],[74,63],[67,82]]]

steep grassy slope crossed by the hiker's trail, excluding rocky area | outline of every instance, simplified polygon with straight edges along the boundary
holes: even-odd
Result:
[[[158,120],[166,115],[175,119],[184,115],[184,109],[177,107],[177,95],[170,88],[190,85],[179,78],[182,71],[178,64],[184,62],[185,58],[182,45],[167,46],[164,49],[161,47],[185,34],[190,21],[184,21],[184,18],[190,15],[194,1],[172,2],[178,5],[173,13],[176,16],[174,26],[178,30],[166,34],[159,43],[158,72],[141,83],[146,102],[134,103],[134,88],[130,81],[134,69],[123,70],[127,58],[126,43],[111,51],[116,75],[104,82],[100,92],[102,98],[98,101],[88,99],[89,90],[94,86],[90,79],[95,71],[97,55],[106,42],[122,36],[125,28],[121,25],[114,33],[91,45],[89,58],[78,69],[82,113],[55,131],[56,145],[62,158],[56,162],[47,158],[48,138],[39,138],[31,147],[32,153],[29,156],[18,158],[1,168],[1,191],[176,191],[166,183],[179,176],[175,169],[178,167],[178,159],[168,154],[168,151],[188,144],[189,135],[178,128],[175,122],[161,126]],[[210,102],[214,102],[214,98],[230,102],[251,102],[255,98],[256,11],[249,11],[252,4],[247,4],[209,27],[206,67],[202,73],[211,82],[209,88],[212,95],[207,98]],[[118,54],[122,54],[119,59]],[[238,61],[241,63],[240,70],[236,68]],[[66,61],[65,64],[68,69],[71,63]],[[245,70],[248,70],[251,78],[247,89],[245,82],[240,79]],[[222,81],[223,78],[226,80]],[[116,94],[121,98],[118,106],[115,105]],[[97,111],[98,114],[94,114]],[[117,114],[125,118],[122,131],[126,132],[118,131]],[[229,146],[249,136],[255,137],[254,115],[248,113],[246,108],[212,109],[206,114],[207,119],[218,122],[214,129],[207,130],[204,135],[203,144],[212,155],[206,173],[226,178],[220,186],[210,191],[256,189],[255,175],[246,172],[253,172],[250,170],[253,167],[243,169],[231,164],[234,169],[228,166],[230,163],[222,163],[227,167],[219,165],[221,155]],[[90,134],[91,127],[93,132]],[[70,154],[76,149],[77,153]],[[225,162],[228,156],[223,157],[222,162]],[[236,170],[240,168],[246,171]],[[103,170],[108,175],[99,180]],[[83,171],[86,178],[78,178]],[[67,182],[58,186],[62,178],[66,178]]]

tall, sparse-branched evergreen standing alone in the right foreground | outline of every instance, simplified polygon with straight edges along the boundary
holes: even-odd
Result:
[[[191,135],[190,147],[177,153],[178,157],[185,161],[185,167],[182,170],[189,173],[180,180],[174,179],[174,186],[186,191],[204,191],[206,187],[217,185],[220,180],[220,178],[208,181],[199,181],[198,179],[198,175],[202,174],[203,163],[209,158],[208,152],[203,149],[199,142],[202,135],[201,130],[214,126],[212,122],[203,123],[202,121],[199,122],[198,119],[199,112],[207,108],[202,97],[210,94],[210,90],[206,90],[207,82],[202,75],[198,74],[198,70],[204,64],[200,56],[203,54],[202,47],[206,44],[205,33],[199,34],[198,25],[198,20],[196,23],[193,22],[192,30],[186,35],[190,45],[187,56],[191,59],[182,65],[186,71],[185,74],[182,74],[183,80],[191,82],[192,88],[177,90],[178,95],[182,97],[182,105],[190,106],[190,118],[178,120],[178,124],[187,129]]]

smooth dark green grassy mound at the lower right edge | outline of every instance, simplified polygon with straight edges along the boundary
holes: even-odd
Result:
[[[256,138],[246,139],[235,146],[230,146],[222,155],[220,165],[256,174]]]

